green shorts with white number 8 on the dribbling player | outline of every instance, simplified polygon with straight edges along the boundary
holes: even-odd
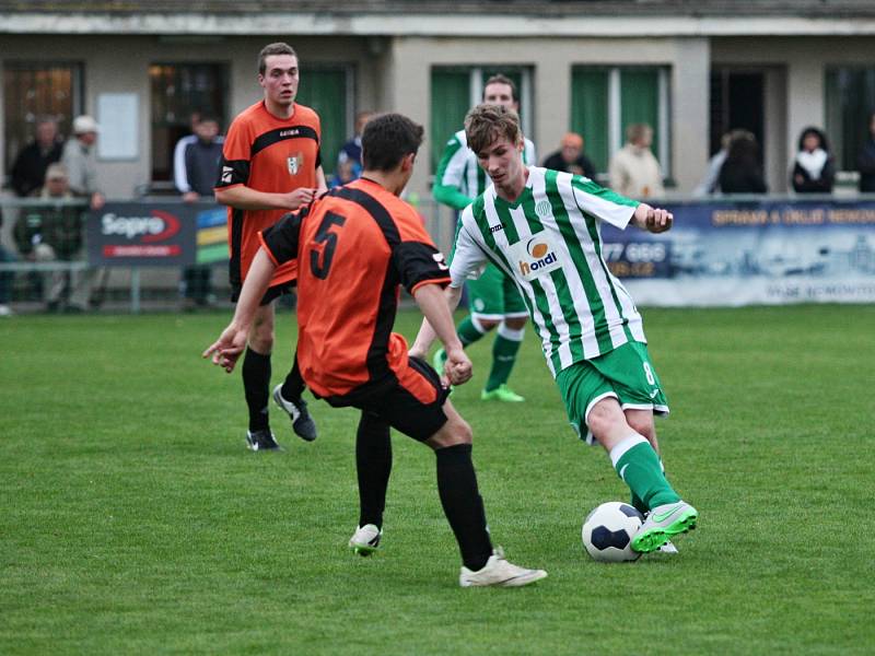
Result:
[[[556,377],[571,425],[582,440],[593,443],[586,425],[590,410],[606,397],[616,398],[623,410],[653,410],[668,414],[668,401],[663,393],[656,368],[650,360],[648,344],[627,342],[612,351],[575,362]]]

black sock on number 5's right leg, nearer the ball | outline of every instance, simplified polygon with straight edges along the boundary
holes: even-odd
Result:
[[[456,444],[439,448],[434,454],[438,457],[438,493],[456,536],[462,562],[469,570],[481,570],[492,555],[492,542],[483,500],[477,488],[471,445]]]

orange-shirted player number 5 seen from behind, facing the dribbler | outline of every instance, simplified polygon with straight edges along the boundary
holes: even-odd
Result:
[[[511,564],[492,549],[470,427],[434,370],[409,358],[405,339],[392,332],[402,284],[446,349],[451,382],[470,378],[442,292],[450,282],[443,256],[416,210],[398,198],[421,142],[422,127],[398,114],[369,121],[361,179],[261,233],[234,318],[203,356],[234,368],[275,269],[298,259],[298,359],[306,384],[331,406],[361,409],[357,450],[371,440],[387,444],[389,426],[434,450],[438,492],[462,552],[463,587],[522,586],[547,573]]]

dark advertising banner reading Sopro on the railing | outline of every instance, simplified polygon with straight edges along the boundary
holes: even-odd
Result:
[[[225,209],[180,202],[109,202],[90,212],[89,262],[180,267],[228,260]]]

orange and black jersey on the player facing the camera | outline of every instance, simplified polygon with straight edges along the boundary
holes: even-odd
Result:
[[[257,191],[285,194],[299,187],[316,187],[316,169],[322,165],[318,115],[304,105],[294,105],[291,118],[277,118],[260,101],[244,109],[231,124],[222,149],[217,189],[246,185]],[[231,286],[238,289],[246,279],[260,243],[258,233],[273,225],[284,210],[237,210],[228,208],[228,242],[231,250]],[[295,277],[295,262],[277,269],[270,284]]]

